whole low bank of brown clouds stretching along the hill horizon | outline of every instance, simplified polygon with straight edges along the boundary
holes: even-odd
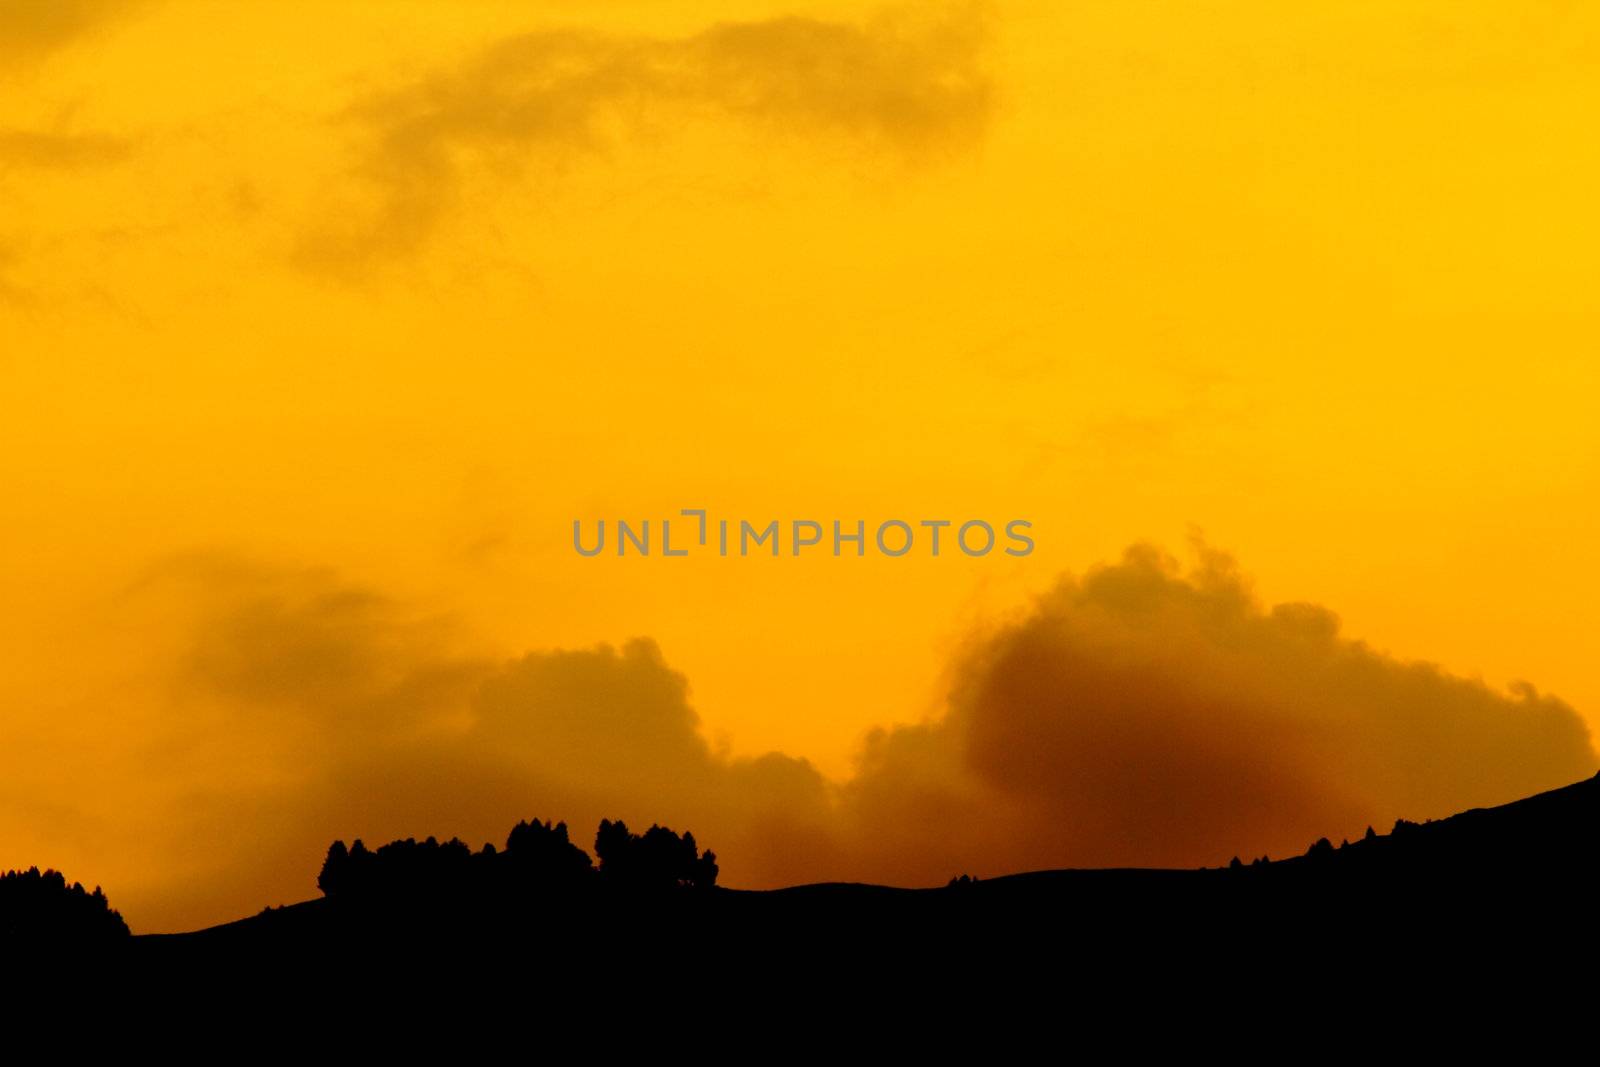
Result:
[[[538,816],[586,841],[622,817],[694,830],[730,885],[933,885],[1299,853],[1597,763],[1560,701],[1394,659],[1315,605],[1264,606],[1210,550],[1184,571],[1134,547],[1062,577],[974,635],[946,709],[872,733],[842,782],[712,745],[646,638],[507,659],[333,571],[216,555],[152,573],[120,617],[165,680],[136,741],[101,758],[93,797],[24,773],[35,789],[0,800],[32,835],[123,849],[147,877],[96,878],[138,929],[312,896],[333,838],[478,845]],[[123,720],[139,697],[118,699]]]

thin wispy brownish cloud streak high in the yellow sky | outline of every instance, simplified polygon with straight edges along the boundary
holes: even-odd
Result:
[[[922,158],[978,138],[992,110],[978,8],[936,22],[778,18],[690,37],[558,29],[502,40],[456,69],[370,96],[342,118],[376,208],[330,211],[296,259],[347,269],[414,250],[469,170],[560,168],[627,134],[694,117],[781,138],[843,138]]]

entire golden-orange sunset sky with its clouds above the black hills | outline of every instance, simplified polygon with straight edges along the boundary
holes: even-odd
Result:
[[[1597,114],[1568,0],[0,0],[0,869],[142,933],[334,837],[925,885],[1592,774]],[[573,550],[686,507],[1037,547]]]

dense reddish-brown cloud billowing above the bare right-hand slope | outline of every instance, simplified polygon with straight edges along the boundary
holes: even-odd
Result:
[[[1227,557],[1149,547],[1066,577],[979,643],[947,712],[869,741],[861,829],[904,840],[877,877],[1206,865],[1285,854],[1595,769],[1578,713],[1339,635],[1317,605],[1261,606]]]

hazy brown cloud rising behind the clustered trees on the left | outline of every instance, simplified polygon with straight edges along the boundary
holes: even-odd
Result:
[[[310,896],[336,837],[499,843],[533,816],[581,841],[602,817],[688,827],[747,883],[830,865],[830,785],[805,760],[715,750],[650,640],[493,659],[458,621],[333,573],[213,555],[130,597],[187,633],[165,736],[136,752],[178,784],[141,840],[171,877],[118,893],[139,929]]]

